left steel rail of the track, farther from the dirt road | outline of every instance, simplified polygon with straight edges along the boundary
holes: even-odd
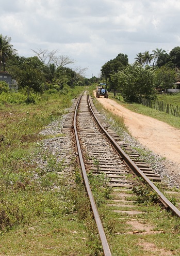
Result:
[[[92,191],[91,191],[91,188],[90,188],[90,185],[89,185],[89,181],[88,181],[88,177],[87,177],[87,173],[86,173],[86,169],[85,169],[85,165],[84,165],[84,161],[83,161],[83,156],[82,156],[81,149],[80,149],[80,143],[79,143],[79,140],[78,140],[78,134],[77,134],[77,129],[76,129],[76,114],[77,114],[77,108],[79,106],[79,102],[80,102],[81,97],[79,98],[79,100],[77,102],[77,106],[76,106],[76,109],[75,109],[75,112],[74,112],[74,121],[73,121],[73,127],[74,127],[75,138],[76,138],[76,146],[77,146],[77,151],[78,151],[78,158],[79,158],[79,162],[80,162],[80,166],[81,166],[81,171],[82,171],[82,174],[83,174],[84,183],[85,183],[85,186],[86,186],[86,191],[87,191],[87,194],[88,194],[88,197],[89,197],[89,200],[90,200],[93,216],[94,216],[95,222],[97,224],[97,229],[98,229],[100,239],[101,239],[101,243],[102,243],[102,246],[103,246],[104,256],[111,256],[111,252],[110,252],[109,245],[108,245],[108,242],[107,242],[107,238],[106,238],[106,235],[105,235],[105,232],[104,232],[104,229],[103,229],[103,225],[102,225],[102,222],[101,222],[101,219],[100,219],[100,215],[98,213],[98,210],[97,210],[94,198],[93,198],[93,194],[92,194]]]

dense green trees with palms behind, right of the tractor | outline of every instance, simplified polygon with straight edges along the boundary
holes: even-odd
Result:
[[[138,53],[134,64],[128,63],[128,56],[118,54],[101,68],[102,79],[110,91],[118,91],[126,102],[138,102],[139,98],[155,100],[157,89],[173,88],[180,80],[180,47],[169,54],[156,48],[152,53]]]

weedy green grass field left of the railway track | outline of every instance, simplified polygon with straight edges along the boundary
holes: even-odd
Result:
[[[35,104],[24,103],[19,94],[0,95],[1,255],[101,255],[78,169],[72,163],[73,175],[57,174],[63,159],[43,153],[41,142],[48,136],[39,134],[66,114],[83,90],[35,95]],[[47,162],[43,170],[34,161],[40,155]],[[76,189],[69,186],[74,180]]]

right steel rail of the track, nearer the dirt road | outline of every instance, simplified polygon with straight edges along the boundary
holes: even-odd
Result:
[[[160,201],[165,205],[166,208],[172,210],[172,213],[178,217],[180,217],[180,211],[165,197],[165,195],[151,182],[151,180],[137,167],[137,165],[127,156],[127,154],[124,152],[124,150],[118,145],[118,143],[111,137],[111,135],[105,130],[105,128],[101,125],[99,119],[95,116],[91,104],[89,101],[89,95],[88,95],[88,104],[89,108],[91,110],[91,113],[97,123],[97,125],[100,127],[100,129],[104,132],[106,137],[110,140],[114,148],[116,148],[117,152],[121,155],[121,157],[124,159],[124,161],[127,163],[127,165],[130,167],[130,169],[139,177],[142,177],[146,183],[150,185],[150,187],[156,191],[156,193],[159,196]]]

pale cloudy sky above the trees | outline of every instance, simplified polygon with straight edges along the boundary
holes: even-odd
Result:
[[[179,0],[0,0],[0,34],[20,56],[31,49],[59,50],[98,77],[119,53],[180,46]],[[72,68],[74,68],[72,66]]]

